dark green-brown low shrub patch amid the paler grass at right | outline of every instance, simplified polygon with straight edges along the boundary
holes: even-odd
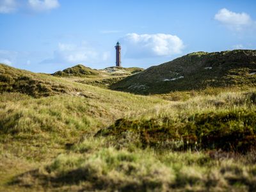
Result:
[[[142,147],[247,152],[256,144],[256,112],[203,113],[177,122],[168,118],[142,121],[123,118],[108,129],[101,129],[96,136],[115,136],[118,142],[125,132],[138,134]]]

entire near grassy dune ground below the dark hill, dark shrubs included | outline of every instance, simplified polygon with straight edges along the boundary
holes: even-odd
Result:
[[[0,92],[0,191],[256,190],[254,87],[140,96],[0,65]]]

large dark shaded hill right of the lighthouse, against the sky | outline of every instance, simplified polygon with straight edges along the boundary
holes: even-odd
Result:
[[[111,89],[149,94],[256,85],[256,51],[193,52],[150,67],[111,85]]]

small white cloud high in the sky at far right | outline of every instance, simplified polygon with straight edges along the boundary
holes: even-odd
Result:
[[[241,29],[255,24],[255,21],[253,21],[247,13],[235,13],[227,10],[226,8],[223,8],[216,13],[214,19],[220,21],[228,28],[237,31],[241,31]]]

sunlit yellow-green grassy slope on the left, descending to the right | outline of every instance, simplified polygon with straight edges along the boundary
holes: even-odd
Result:
[[[10,185],[15,175],[38,168],[124,115],[164,103],[0,64],[0,191],[28,191]]]

